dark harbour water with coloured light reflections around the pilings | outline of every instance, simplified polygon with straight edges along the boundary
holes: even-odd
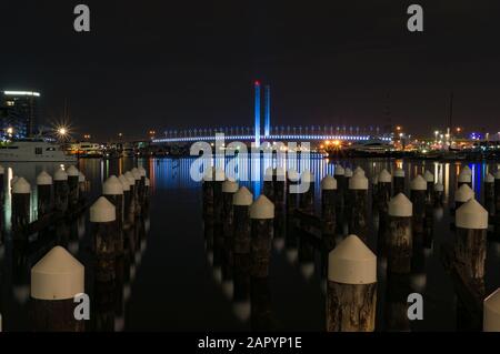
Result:
[[[324,254],[306,241],[290,246],[283,239],[274,240],[270,275],[267,282],[253,286],[251,301],[234,302],[233,295],[239,284],[224,279],[217,250],[207,244],[202,220],[201,185],[190,178],[192,159],[180,160],[120,160],[102,162],[81,160],[79,168],[91,181],[91,195],[100,193],[102,180],[109,174],[143,165],[151,180],[151,208],[144,215],[138,232],[142,234],[140,246],[126,264],[127,280],[119,284],[123,306],[110,309],[97,306],[102,299],[93,284],[93,263],[91,252],[91,227],[88,213],[73,224],[67,225],[68,250],[86,265],[86,292],[92,302],[89,330],[107,331],[250,331],[256,328],[256,318],[266,317],[261,330],[324,331],[326,279]],[[220,163],[220,162],[218,162]],[[251,175],[259,176],[271,163],[260,161],[249,166]],[[276,163],[276,162],[274,162]],[[370,179],[383,168],[393,170],[401,164],[409,180],[417,173],[430,170],[436,181],[444,184],[446,202],[442,209],[434,210],[433,243],[422,249],[417,256],[419,272],[409,276],[407,285],[386,276],[386,266],[379,257],[378,267],[378,312],[377,330],[388,328],[390,317],[406,313],[404,296],[408,292],[420,292],[424,301],[422,321],[413,321],[407,327],[396,330],[412,331],[456,331],[459,325],[457,295],[449,274],[444,272],[439,257],[442,243],[453,242],[450,230],[449,208],[453,200],[456,179],[464,163],[434,163],[426,161],[359,160],[342,161],[352,169],[360,165]],[[482,200],[481,184],[496,165],[469,163],[473,175],[477,199]],[[53,173],[58,164],[9,164],[6,174],[22,175],[32,186],[36,175],[47,169]],[[244,168],[242,168],[244,169]],[[319,213],[319,181],[327,173],[333,174],[333,162],[313,159],[316,174],[317,213]],[[243,182],[254,195],[262,188],[261,182]],[[33,193],[32,200],[36,200]],[[36,203],[32,203],[33,205]],[[371,201],[369,203],[371,205]],[[371,208],[370,208],[371,213]],[[32,209],[32,216],[37,211]],[[3,222],[3,243],[0,246],[0,313],[3,331],[31,330],[29,317],[29,270],[43,255],[38,246],[16,250],[10,241],[10,198],[7,195]],[[370,216],[370,220],[372,218]],[[293,237],[286,231],[284,237]],[[341,235],[339,235],[339,239]],[[377,231],[372,222],[368,245],[377,253]],[[37,249],[38,247],[38,249]],[[44,247],[48,247],[44,245]],[[50,247],[49,247],[50,249]],[[309,251],[309,252],[307,252]],[[487,294],[500,285],[500,244],[489,241],[487,256]],[[396,294],[396,295],[394,295]],[[396,297],[394,297],[396,296]],[[388,300],[390,299],[390,301]],[[396,301],[394,301],[396,299]],[[402,300],[401,300],[402,299]],[[99,307],[99,310],[98,310]],[[113,307],[113,306],[111,306]],[[108,318],[99,321],[100,318]],[[110,321],[111,320],[111,321]],[[106,322],[108,324],[103,325]]]

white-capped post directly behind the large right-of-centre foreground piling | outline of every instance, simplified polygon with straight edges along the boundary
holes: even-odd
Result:
[[[368,239],[368,179],[358,171],[349,179],[349,233]]]

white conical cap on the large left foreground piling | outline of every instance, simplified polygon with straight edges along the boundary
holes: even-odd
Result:
[[[31,297],[67,300],[84,293],[84,267],[67,250],[56,246],[31,269]]]

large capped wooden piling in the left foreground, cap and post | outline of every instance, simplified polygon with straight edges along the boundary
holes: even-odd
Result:
[[[74,317],[74,297],[84,293],[84,267],[66,249],[56,246],[31,269],[34,331],[82,332]]]

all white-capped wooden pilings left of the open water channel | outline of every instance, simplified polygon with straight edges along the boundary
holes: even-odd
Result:
[[[83,174],[74,166],[59,169],[53,178],[41,172],[37,178],[38,218],[50,213],[63,214],[74,210],[86,188]],[[53,184],[53,189],[52,189]],[[114,295],[117,282],[123,283],[123,264],[132,264],[140,246],[143,215],[149,209],[150,181],[143,168],[111,175],[102,185],[102,196],[90,206],[94,296],[92,304],[99,316],[97,327],[113,330],[116,307],[122,312],[123,302]],[[53,190],[53,192],[52,192]],[[24,231],[29,224],[29,183],[19,178],[12,183],[12,226]],[[142,225],[143,226],[143,225]],[[32,232],[33,230],[29,230]],[[136,260],[137,262],[137,260]],[[129,270],[128,276],[132,271]],[[76,316],[77,297],[86,293],[84,266],[61,245],[52,247],[31,267],[31,321],[34,331],[84,331],[88,318]],[[123,291],[120,290],[122,294]],[[122,295],[123,296],[123,295]],[[121,297],[122,297],[121,296]],[[91,296],[89,296],[90,299]],[[91,299],[90,299],[91,300]]]

